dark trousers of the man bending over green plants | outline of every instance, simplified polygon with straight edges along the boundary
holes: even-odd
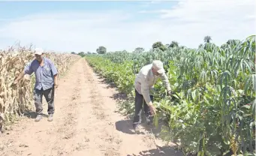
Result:
[[[153,102],[152,95],[150,95],[150,99]],[[146,115],[146,120],[148,122],[152,122],[152,115],[150,113],[149,106],[146,104],[146,101],[143,98],[143,95],[140,95],[135,89],[135,115],[134,115],[134,121],[133,121],[134,126],[136,126],[137,124],[141,124],[141,111],[142,111],[143,105],[144,105],[144,113]]]

